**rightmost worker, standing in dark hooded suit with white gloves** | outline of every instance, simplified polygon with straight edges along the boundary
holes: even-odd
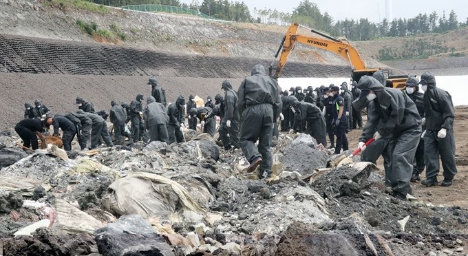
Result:
[[[439,156],[444,169],[444,180],[440,186],[451,186],[457,169],[455,164],[454,138],[454,103],[448,92],[436,87],[434,74],[425,72],[419,82],[425,91],[424,114],[426,130],[424,134],[424,151],[426,162],[426,180],[421,184],[435,186],[440,169]]]

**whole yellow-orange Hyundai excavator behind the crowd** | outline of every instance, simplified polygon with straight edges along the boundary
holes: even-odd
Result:
[[[273,74],[273,63],[270,65],[270,76],[277,79],[281,74],[281,71],[286,65],[286,61],[288,61],[288,57],[292,50],[294,50],[295,43],[304,43],[305,45],[310,45],[312,47],[317,47],[322,50],[327,50],[330,52],[334,52],[344,58],[346,61],[350,62],[352,67],[352,81],[359,82],[361,76],[372,76],[374,72],[377,70],[381,70],[385,77],[387,78],[387,87],[394,87],[394,88],[404,88],[408,75],[401,75],[401,76],[393,76],[392,70],[382,69],[382,68],[367,68],[365,67],[364,61],[357,52],[356,48],[352,47],[348,41],[342,41],[340,39],[336,39],[328,34],[323,34],[317,30],[313,30],[311,28],[306,28],[315,34],[319,34],[320,36],[325,37],[326,39],[321,39],[312,36],[304,36],[297,33],[297,30],[301,28],[306,28],[298,23],[294,23],[289,26],[286,34],[281,41],[281,45],[279,45],[279,49],[275,54],[275,60],[281,52],[281,56],[279,56],[278,65],[275,70],[275,74]]]

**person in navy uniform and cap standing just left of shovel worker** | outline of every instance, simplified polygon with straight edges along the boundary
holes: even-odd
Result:
[[[332,86],[332,127],[333,133],[337,136],[337,145],[334,153],[341,153],[348,150],[348,138],[346,138],[346,129],[348,128],[348,119],[346,119],[345,100],[339,95],[339,87]]]

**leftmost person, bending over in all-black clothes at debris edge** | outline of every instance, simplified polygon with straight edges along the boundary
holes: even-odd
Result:
[[[39,149],[37,136],[39,136],[41,140],[44,140],[44,136],[41,133],[42,129],[43,122],[37,119],[23,119],[14,126],[14,131],[16,131],[21,140],[23,140],[23,147],[29,149],[32,145],[32,149],[34,150]]]

